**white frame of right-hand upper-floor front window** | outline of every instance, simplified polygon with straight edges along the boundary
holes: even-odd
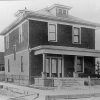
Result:
[[[79,29],[78,35],[74,34],[75,28]],[[78,36],[78,42],[74,42],[74,36]],[[79,26],[73,26],[72,27],[72,43],[73,44],[81,44],[81,27],[79,27]]]

